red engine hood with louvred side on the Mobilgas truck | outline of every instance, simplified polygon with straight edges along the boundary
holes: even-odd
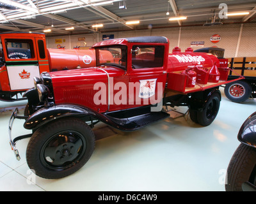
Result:
[[[109,78],[125,75],[125,70],[99,66],[93,68],[71,69],[51,72],[52,89],[56,105],[61,103],[79,104],[99,112],[108,110],[107,104],[97,105],[94,96],[99,91],[97,84],[104,85],[108,90]]]

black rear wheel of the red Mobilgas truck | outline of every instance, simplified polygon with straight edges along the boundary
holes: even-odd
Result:
[[[218,115],[220,109],[220,94],[213,93],[206,101],[204,109],[196,113],[198,124],[201,126],[209,126]]]

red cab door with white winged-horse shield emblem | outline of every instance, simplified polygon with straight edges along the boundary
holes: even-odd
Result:
[[[132,43],[129,70],[129,108],[154,105],[163,99],[166,84],[166,46]],[[168,56],[168,55],[167,55]],[[133,87],[132,87],[133,86]]]

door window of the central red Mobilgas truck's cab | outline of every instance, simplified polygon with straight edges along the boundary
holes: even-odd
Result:
[[[157,68],[163,66],[164,46],[134,45],[132,50],[132,68]]]

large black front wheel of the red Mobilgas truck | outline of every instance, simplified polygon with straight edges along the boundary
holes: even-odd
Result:
[[[92,156],[95,136],[80,119],[63,118],[38,128],[29,140],[29,168],[45,179],[60,179],[79,170]]]

